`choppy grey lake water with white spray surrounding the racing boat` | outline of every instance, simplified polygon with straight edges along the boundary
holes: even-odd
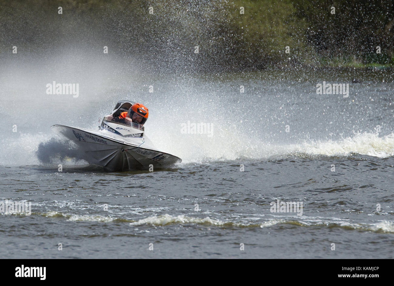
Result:
[[[0,215],[0,251],[12,258],[393,258],[392,71],[361,74],[359,84],[353,76],[141,76],[79,98],[48,98],[39,80],[8,96],[16,80],[1,91],[0,199],[30,201],[32,214]],[[317,95],[323,81],[350,82],[349,97]],[[147,135],[183,159],[177,168],[106,173],[72,158],[51,133],[59,123],[96,129],[123,98],[148,106]],[[12,116],[26,102],[25,116]],[[212,136],[182,134],[187,121],[212,124]],[[303,214],[271,212],[277,200],[302,202]]]

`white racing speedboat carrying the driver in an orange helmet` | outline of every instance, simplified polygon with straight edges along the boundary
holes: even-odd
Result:
[[[179,157],[156,149],[141,124],[117,120],[121,112],[129,110],[133,104],[119,101],[112,113],[102,119],[97,131],[58,124],[51,128],[84,151],[81,159],[107,171],[151,171],[152,168],[171,167],[182,162]]]

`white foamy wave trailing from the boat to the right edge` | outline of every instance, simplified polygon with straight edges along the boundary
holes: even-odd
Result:
[[[184,142],[180,157],[184,163],[203,163],[212,161],[286,159],[301,157],[310,160],[330,160],[332,157],[355,159],[362,156],[387,158],[394,156],[394,134],[379,137],[376,133],[355,134],[337,140],[299,140],[294,144],[269,144],[259,140],[247,143],[231,141]],[[254,143],[253,143],[254,142]],[[194,146],[193,146],[194,145]],[[187,146],[187,149],[186,147]],[[183,149],[182,149],[183,148]],[[193,150],[190,152],[190,150]],[[196,150],[199,150],[196,152]],[[179,152],[179,151],[178,151]]]

